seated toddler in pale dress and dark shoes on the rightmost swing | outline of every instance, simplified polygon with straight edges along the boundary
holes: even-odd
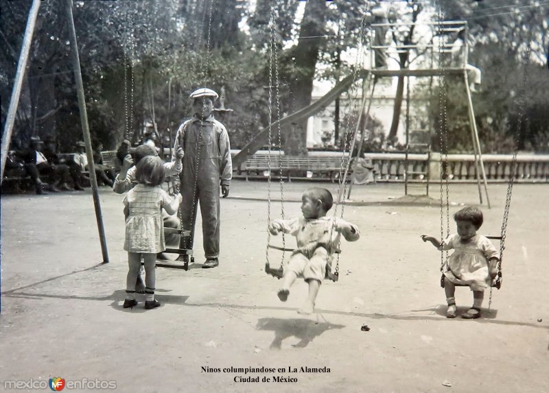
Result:
[[[455,250],[443,267],[448,304],[446,318],[456,318],[456,284],[467,285],[473,291],[473,307],[461,318],[480,318],[484,289],[491,287],[497,274],[500,252],[487,237],[476,233],[482,225],[482,211],[476,207],[465,207],[454,214],[454,220],[457,234],[449,235],[444,241],[428,235],[421,235],[421,239],[430,241],[439,250]]]

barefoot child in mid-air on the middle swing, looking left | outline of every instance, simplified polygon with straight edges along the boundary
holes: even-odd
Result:
[[[344,219],[326,217],[333,203],[334,199],[327,189],[307,189],[301,196],[303,217],[275,219],[269,224],[272,235],[283,232],[296,237],[297,248],[284,267],[278,296],[285,302],[296,278],[303,277],[309,284],[309,295],[297,311],[300,314],[307,315],[314,311],[320,283],[325,277],[327,265],[331,267],[331,257],[336,252],[340,235],[347,241],[355,241],[360,237],[357,226]]]

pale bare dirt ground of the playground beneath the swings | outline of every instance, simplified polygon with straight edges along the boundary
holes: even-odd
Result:
[[[285,215],[299,214],[296,201],[312,185],[284,184]],[[89,189],[4,195],[0,390],[21,391],[5,381],[62,377],[64,391],[86,379],[86,389],[72,391],[115,381],[119,392],[549,392],[549,184],[515,185],[503,287],[490,311],[486,294],[478,320],[445,318],[440,254],[419,239],[440,236],[439,202],[403,200],[402,184],[353,189],[344,217],[362,238],[342,244],[340,280],[323,283],[316,313],[299,315],[305,283],[283,303],[280,282],[263,271],[266,186],[233,181],[222,200],[220,267],[200,269],[198,233],[191,270],[156,270],[162,307],[150,311],[142,298],[122,308],[121,195],[100,190],[106,264]],[[273,199],[278,187],[272,183]],[[480,233],[500,234],[505,191],[489,185],[492,209],[484,205]],[[439,195],[434,185],[431,196]],[[476,184],[451,185],[449,195],[450,214],[478,204]],[[280,217],[281,204],[271,207]],[[277,265],[281,253],[270,260]],[[460,312],[472,304],[467,288],[456,298]]]

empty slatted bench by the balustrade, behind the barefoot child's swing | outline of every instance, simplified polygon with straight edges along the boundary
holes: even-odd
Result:
[[[283,176],[292,181],[292,173],[302,172],[294,178],[313,178],[315,174],[320,176],[329,176],[329,179],[334,182],[336,174],[344,171],[347,167],[348,158],[340,157],[301,157],[301,156],[279,156],[272,154],[269,158],[267,155],[256,155],[246,160],[244,165],[239,169],[244,172],[246,180],[250,174],[268,176],[270,170],[271,176]],[[306,175],[303,176],[303,173]]]

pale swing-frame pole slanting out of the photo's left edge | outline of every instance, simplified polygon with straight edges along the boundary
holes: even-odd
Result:
[[[36,26],[36,18],[38,17],[38,9],[40,8],[40,0],[34,0],[29,11],[27,19],[27,27],[25,28],[25,36],[23,36],[23,45],[21,45],[21,55],[17,63],[17,71],[13,84],[12,98],[10,99],[10,108],[8,115],[5,117],[5,127],[2,134],[2,149],[1,149],[1,175],[0,184],[4,177],[5,160],[8,158],[8,150],[12,141],[13,126],[15,123],[15,115],[19,106],[19,98],[21,97],[21,88],[23,79],[25,78],[25,70],[29,60],[29,51],[32,44],[32,36],[34,35],[34,27]]]

